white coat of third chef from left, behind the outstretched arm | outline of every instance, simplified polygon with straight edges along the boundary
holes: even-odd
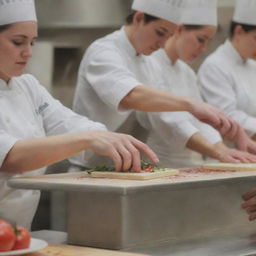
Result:
[[[164,78],[164,83],[158,84],[158,88],[202,100],[196,74],[185,62],[177,60],[173,64],[162,49],[155,52],[152,58],[161,67]],[[188,112],[140,113],[138,119],[150,130],[147,143],[158,155],[162,166],[201,165],[201,154],[186,148],[189,138],[197,132],[213,144],[221,141],[221,136],[214,128],[200,122]]]

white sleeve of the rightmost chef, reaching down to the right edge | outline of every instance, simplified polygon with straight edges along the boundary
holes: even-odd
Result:
[[[251,136],[256,133],[256,118],[237,108],[232,78],[221,67],[205,62],[199,69],[198,81],[203,98],[226,112]]]

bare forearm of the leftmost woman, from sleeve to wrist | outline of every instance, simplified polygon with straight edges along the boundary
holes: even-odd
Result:
[[[35,170],[88,148],[90,132],[27,139],[15,143],[0,171],[20,173]]]

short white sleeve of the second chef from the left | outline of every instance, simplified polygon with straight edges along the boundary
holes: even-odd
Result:
[[[102,49],[85,55],[79,76],[86,79],[98,97],[115,110],[121,100],[136,86],[142,83],[128,69],[118,51]]]

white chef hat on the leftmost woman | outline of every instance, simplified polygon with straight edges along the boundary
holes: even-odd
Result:
[[[37,21],[34,0],[0,0],[0,25]]]

